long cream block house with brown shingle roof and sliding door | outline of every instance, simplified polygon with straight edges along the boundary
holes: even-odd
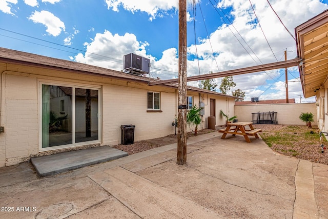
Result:
[[[0,48],[0,167],[30,157],[81,147],[121,143],[121,125],[135,125],[134,141],[174,133],[177,84],[149,86],[156,79]],[[188,106],[234,114],[234,98],[188,87]],[[1,129],[0,129],[1,130]]]

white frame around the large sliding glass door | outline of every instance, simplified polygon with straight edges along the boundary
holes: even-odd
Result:
[[[59,146],[53,146],[53,147],[42,147],[42,116],[43,116],[43,109],[42,109],[42,86],[43,85],[53,85],[53,86],[65,86],[65,87],[71,87],[72,88],[72,144],[67,145],[59,145]],[[98,140],[94,141],[88,141],[88,142],[75,142],[75,88],[81,88],[81,89],[93,89],[98,90]],[[58,149],[65,149],[65,148],[72,148],[76,146],[81,145],[91,145],[91,144],[98,144],[101,143],[102,134],[101,134],[101,127],[102,127],[102,118],[101,118],[101,86],[96,85],[85,85],[85,84],[77,84],[77,83],[65,83],[65,82],[53,82],[53,81],[46,81],[46,80],[40,80],[38,81],[38,107],[39,107],[39,152],[44,151],[52,151],[52,150],[58,150]]]

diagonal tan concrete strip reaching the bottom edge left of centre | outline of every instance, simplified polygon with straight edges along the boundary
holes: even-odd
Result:
[[[220,218],[213,210],[121,167],[89,177],[141,218]]]

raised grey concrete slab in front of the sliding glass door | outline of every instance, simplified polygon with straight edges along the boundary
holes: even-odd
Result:
[[[33,157],[31,163],[40,176],[49,176],[92,164],[112,161],[123,156],[128,156],[128,153],[103,146]]]

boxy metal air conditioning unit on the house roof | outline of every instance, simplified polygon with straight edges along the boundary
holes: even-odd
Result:
[[[124,70],[132,74],[149,74],[150,59],[134,53],[124,56]]]

